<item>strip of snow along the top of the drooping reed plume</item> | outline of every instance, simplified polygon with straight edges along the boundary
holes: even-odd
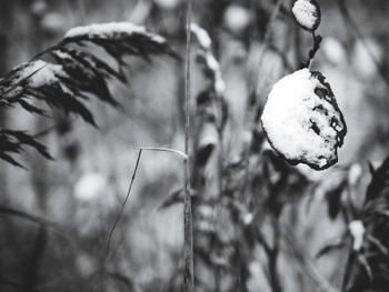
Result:
[[[64,38],[72,39],[72,38],[87,37],[90,39],[93,39],[93,38],[111,39],[120,34],[132,34],[132,33],[147,34],[153,41],[160,42],[160,43],[166,41],[160,36],[147,32],[144,27],[140,27],[131,22],[108,22],[108,23],[90,24],[86,27],[77,27],[77,28],[70,29],[64,34]]]

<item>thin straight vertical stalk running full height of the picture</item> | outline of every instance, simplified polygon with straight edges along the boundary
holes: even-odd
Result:
[[[186,49],[186,78],[184,78],[184,102],[186,102],[186,129],[184,129],[184,152],[188,159],[183,163],[184,173],[184,199],[183,199],[183,286],[184,292],[194,290],[193,276],[193,228],[192,228],[192,205],[190,198],[190,22],[191,22],[191,0],[187,0],[187,49]]]

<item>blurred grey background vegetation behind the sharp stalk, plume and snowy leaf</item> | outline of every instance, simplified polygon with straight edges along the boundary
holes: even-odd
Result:
[[[289,167],[270,150],[258,115],[271,85],[297,70],[312,46],[289,12],[292,1],[277,2],[193,1],[192,19],[211,36],[229,109],[221,137],[199,127],[209,80],[193,41],[197,291],[341,291],[350,242],[321,251],[358,219],[350,209],[363,204],[369,163],[378,167],[388,153],[385,0],[318,1],[323,41],[312,69],[327,77],[348,125],[339,163],[317,172]],[[72,27],[110,21],[146,26],[184,56],[182,0],[1,0],[0,73]],[[173,200],[183,183],[179,157],[143,152],[106,256],[138,149],[182,151],[184,140],[183,64],[131,57],[126,74],[127,84],[110,84],[119,110],[88,103],[99,129],[56,111],[52,119],[18,108],[0,112],[1,127],[43,131],[40,141],[56,159],[28,150],[19,157],[27,170],[0,162],[0,291],[182,291],[183,210]]]

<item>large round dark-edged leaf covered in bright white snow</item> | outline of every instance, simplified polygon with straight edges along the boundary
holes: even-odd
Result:
[[[301,69],[279,80],[261,121],[270,144],[291,164],[323,170],[338,161],[347,129],[320,72]]]

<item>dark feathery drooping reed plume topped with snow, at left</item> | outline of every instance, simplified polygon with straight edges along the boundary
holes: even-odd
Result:
[[[87,51],[86,43],[101,47],[118,63],[118,68]],[[79,47],[70,48],[68,44]],[[126,81],[123,58],[137,56],[151,61],[151,57],[163,54],[178,58],[166,39],[130,22],[74,28],[58,44],[39,53],[32,61],[18,66],[0,80],[0,108],[20,105],[30,113],[47,115],[46,110],[33,102],[39,100],[97,127],[93,113],[82,101],[94,97],[110,105],[119,105],[111,95],[108,81],[112,78]],[[43,56],[50,56],[52,61],[41,60]],[[32,135],[22,133],[2,133],[2,160],[21,167],[11,155],[22,152],[23,145],[50,157]]]

